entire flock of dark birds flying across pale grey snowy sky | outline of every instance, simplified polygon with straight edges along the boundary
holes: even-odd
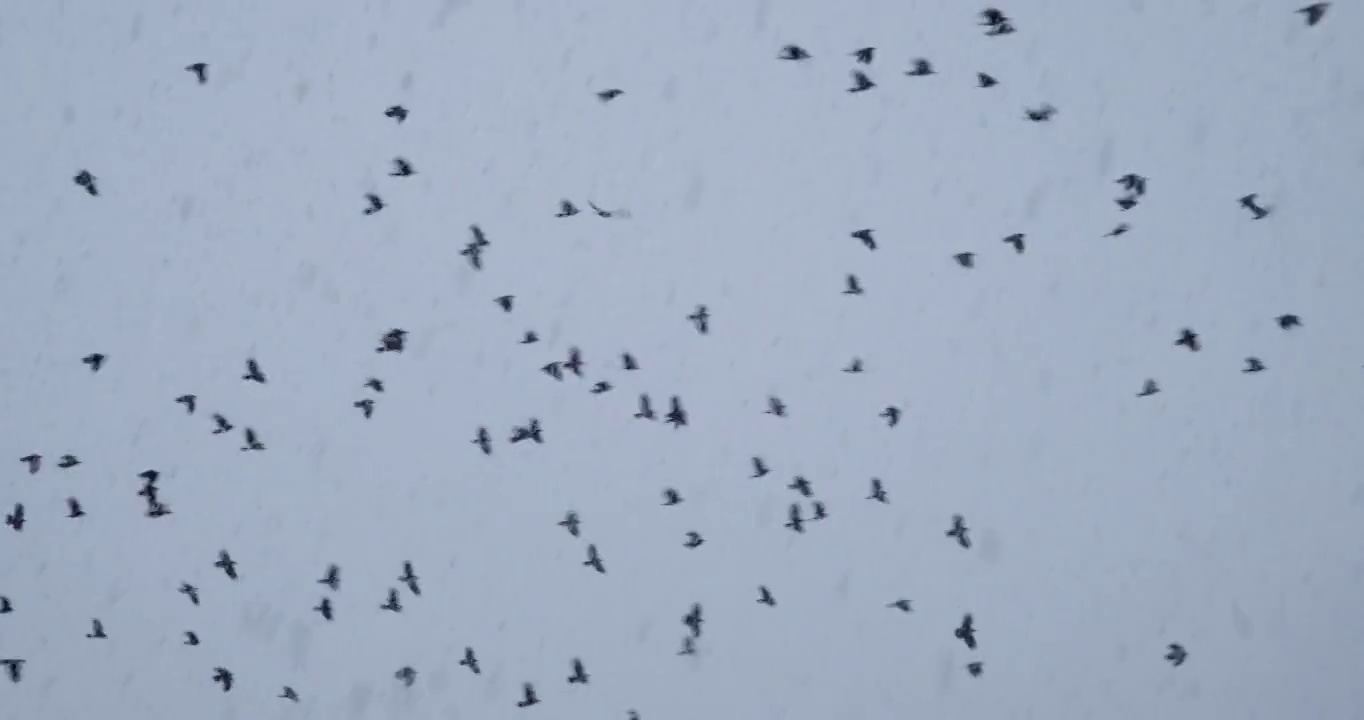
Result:
[[[1305,16],[1305,22],[1308,26],[1315,26],[1324,16],[1327,7],[1329,3],[1315,3],[1304,8],[1300,8],[1297,12]],[[988,8],[982,11],[979,16],[981,16],[979,25],[986,29],[985,33],[988,35],[1000,37],[1000,35],[1009,35],[1018,31],[1013,19],[998,10]],[[854,50],[851,55],[857,63],[862,65],[872,65],[876,59],[876,48],[861,48]],[[812,59],[812,55],[799,45],[786,45],[784,48],[780,49],[777,57],[786,61],[807,61]],[[188,65],[186,70],[195,76],[198,83],[203,85],[209,82],[207,63],[194,63]],[[906,71],[906,75],[929,76],[934,75],[936,72],[937,71],[934,70],[932,61],[929,61],[928,59],[915,59],[911,63],[910,70]],[[986,72],[977,74],[977,85],[982,89],[994,87],[998,83],[1000,80],[994,75]],[[865,93],[874,89],[876,86],[877,83],[872,80],[870,76],[866,75],[866,72],[861,70],[854,70],[853,86],[848,89],[848,91]],[[608,89],[599,91],[597,97],[600,98],[602,102],[610,102],[623,94],[625,94],[623,90]],[[1031,121],[1046,121],[1054,117],[1056,113],[1057,109],[1048,104],[1024,109],[1024,117]],[[393,119],[396,123],[401,124],[408,119],[409,110],[401,105],[393,105],[387,108],[383,112],[383,115],[386,117]],[[400,157],[394,158],[393,170],[389,175],[393,177],[409,177],[415,173],[416,170],[413,169],[413,165],[409,161]],[[83,188],[85,192],[87,192],[90,196],[100,195],[98,180],[89,170],[80,170],[74,180],[75,184]],[[1114,199],[1114,203],[1118,206],[1118,209],[1125,213],[1138,207],[1140,205],[1140,200],[1147,194],[1147,183],[1148,180],[1138,173],[1127,173],[1123,177],[1118,177],[1116,180],[1116,184],[1118,184],[1123,190],[1123,195]],[[366,200],[366,205],[363,207],[364,215],[372,215],[387,207],[385,200],[376,194],[366,195],[364,200]],[[1273,211],[1273,207],[1262,205],[1259,196],[1254,192],[1241,196],[1239,202],[1249,213],[1251,220],[1256,221],[1264,220]],[[627,210],[604,210],[592,202],[588,202],[588,206],[597,217],[602,218],[630,217]],[[555,217],[561,218],[572,217],[578,214],[580,211],[581,211],[580,207],[574,202],[563,199],[559,203]],[[1106,235],[1106,237],[1121,236],[1129,232],[1131,229],[1132,228],[1128,222],[1120,222]],[[484,263],[484,254],[488,251],[490,247],[492,247],[492,243],[479,225],[472,225],[469,228],[469,232],[472,237],[464,245],[460,254],[468,260],[468,263],[475,270],[481,270]],[[877,250],[877,240],[874,230],[872,228],[857,229],[851,232],[850,236],[854,240],[859,241],[868,251]],[[1027,247],[1027,239],[1024,233],[1009,235],[1003,239],[1003,243],[1009,245],[1019,255],[1024,254]],[[953,255],[953,259],[963,269],[973,269],[975,266],[975,254],[970,251],[959,252]],[[865,288],[862,282],[858,280],[858,277],[855,274],[847,274],[843,293],[848,296],[861,296],[863,295],[863,292]],[[509,314],[513,312],[514,310],[514,300],[516,297],[512,295],[503,295],[494,299],[495,304],[503,312]],[[694,312],[687,315],[685,319],[694,327],[697,333],[702,335],[709,333],[711,311],[705,304],[697,305]],[[1303,325],[1303,320],[1294,314],[1279,315],[1278,318],[1274,318],[1274,322],[1278,325],[1278,327],[1281,327],[1285,331],[1300,327]],[[406,346],[406,338],[408,338],[406,330],[397,327],[391,329],[379,337],[375,352],[396,353],[396,355],[402,353]],[[536,342],[539,342],[539,335],[533,330],[525,331],[520,340],[520,344],[522,345],[532,345]],[[1174,345],[1184,348],[1189,352],[1199,352],[1202,346],[1202,340],[1200,335],[1194,329],[1185,327],[1178,331],[1177,338],[1174,340]],[[104,353],[94,352],[82,357],[80,361],[89,368],[90,372],[100,372],[101,370],[104,370],[108,357]],[[622,370],[630,372],[638,371],[641,367],[637,359],[629,352],[622,353],[619,356],[619,363]],[[582,352],[574,346],[569,349],[566,359],[552,360],[544,364],[540,370],[554,380],[562,382],[567,376],[566,374],[572,374],[576,378],[584,378],[585,367],[587,363],[584,360]],[[844,372],[862,372],[862,370],[863,370],[862,360],[857,357],[854,357],[853,361],[843,368]],[[1252,356],[1245,359],[1245,367],[1243,368],[1243,372],[1252,374],[1252,372],[1262,372],[1264,370],[1266,365],[1259,357]],[[265,385],[267,383],[267,375],[265,374],[261,364],[255,359],[247,359],[246,372],[241,375],[241,380]],[[370,419],[375,412],[376,406],[375,398],[385,393],[385,382],[381,380],[379,378],[367,378],[363,383],[360,383],[360,387],[367,390],[370,395],[356,400],[353,402],[353,406],[361,413],[364,419]],[[608,393],[614,387],[610,382],[597,380],[591,386],[591,393],[602,394],[602,393]],[[1159,383],[1154,378],[1148,378],[1144,380],[1144,383],[1142,383],[1138,397],[1150,397],[1159,391],[1161,391]],[[173,398],[173,401],[180,406],[183,406],[187,415],[190,416],[196,415],[198,397],[194,393],[181,394]],[[779,397],[769,397],[765,413],[775,417],[786,417],[787,405]],[[891,428],[893,428],[899,423],[900,416],[902,416],[902,409],[893,405],[887,406],[884,410],[880,412],[880,417],[884,419],[885,424]],[[213,423],[211,432],[214,435],[222,435],[236,430],[236,425],[220,413],[211,413],[210,417]],[[648,394],[641,394],[638,397],[638,405],[634,417],[648,421],[655,421],[659,419],[659,413],[655,412],[653,401],[649,398]],[[662,415],[662,419],[664,423],[672,425],[674,428],[682,428],[687,425],[687,412],[683,406],[681,397],[678,395],[670,397],[668,409],[666,413]],[[505,435],[505,438],[506,438],[505,442],[507,443],[521,443],[527,440],[533,443],[546,442],[544,428],[542,427],[540,420],[536,417],[529,417],[525,424],[512,427]],[[490,431],[487,427],[476,428],[471,442],[476,446],[479,451],[481,451],[486,455],[492,455],[495,453],[496,440],[494,438],[492,431]],[[244,425],[241,427],[240,450],[265,451],[266,445],[261,439],[261,435],[252,427]],[[45,457],[40,453],[29,453],[19,458],[19,461],[23,462],[30,475],[35,475],[42,470],[44,460]],[[56,466],[64,470],[75,468],[80,464],[82,464],[80,460],[74,454],[63,454],[56,461]],[[754,479],[764,477],[771,472],[772,470],[764,458],[761,457],[752,458],[752,477]],[[146,515],[150,518],[160,518],[170,514],[172,511],[170,506],[166,502],[162,502],[161,490],[158,485],[160,476],[161,473],[155,469],[146,469],[138,473],[138,477],[142,480],[142,487],[138,491],[138,496],[142,498],[142,500],[145,500]],[[814,498],[814,491],[809,480],[806,480],[802,476],[797,476],[786,487],[798,494],[801,498],[797,502],[791,502],[788,506],[787,520],[784,522],[786,529],[794,533],[805,533],[807,532],[812,524],[822,522],[829,518],[824,502]],[[663,498],[662,505],[666,507],[678,506],[683,503],[681,492],[672,487],[664,488],[662,491],[662,498]],[[805,505],[805,500],[809,500],[807,507]],[[870,480],[870,490],[869,494],[866,495],[866,500],[877,503],[891,502],[889,492],[887,491],[885,484],[880,479],[873,477]],[[85,515],[86,511],[80,500],[75,496],[68,498],[65,517],[72,520],[79,520]],[[27,522],[29,522],[29,514],[23,503],[15,503],[12,510],[5,515],[5,525],[14,532],[22,532]],[[566,511],[563,520],[558,522],[558,525],[562,526],[573,537],[580,537],[581,524],[582,520],[574,510]],[[956,514],[951,517],[947,524],[947,528],[944,529],[944,535],[947,536],[947,539],[953,541],[962,550],[968,551],[971,548],[970,528],[963,515]],[[683,540],[683,547],[694,550],[701,547],[704,543],[705,539],[700,533],[689,532],[686,533],[686,537]],[[235,582],[240,580],[237,571],[237,562],[232,558],[228,550],[220,551],[217,559],[213,560],[211,565],[213,567],[221,570],[228,581]],[[592,543],[587,544],[585,559],[582,560],[582,566],[596,573],[602,574],[607,573],[606,559],[603,558],[603,554],[596,544]],[[406,588],[406,592],[412,597],[421,596],[420,578],[411,562],[402,563],[402,573],[397,575],[396,580],[400,585]],[[333,622],[336,619],[336,610],[331,601],[331,595],[338,593],[341,590],[341,567],[338,565],[329,566],[325,570],[323,575],[316,582],[325,588],[325,593],[319,599],[318,604],[314,605],[311,610],[318,614],[322,622]],[[190,582],[181,582],[180,586],[177,588],[177,592],[183,595],[188,603],[199,605],[199,597],[202,592],[199,586],[195,586]],[[760,585],[757,588],[756,601],[765,607],[777,605],[776,596],[767,585]],[[11,599],[10,596],[0,595],[0,615],[14,614],[18,610],[22,610],[22,607],[23,607],[22,599],[15,600]],[[376,610],[383,612],[402,612],[404,610],[402,593],[397,586],[389,588],[386,593],[383,593],[383,601],[375,603],[375,607]],[[900,612],[913,612],[914,610],[911,600],[903,597],[887,603],[887,607],[891,610],[898,610]],[[681,649],[678,650],[678,653],[692,655],[696,652],[697,642],[702,637],[704,614],[701,604],[700,603],[693,604],[687,610],[687,612],[682,616],[681,622],[685,626],[686,633],[682,635]],[[963,612],[960,623],[952,630],[952,635],[960,642],[963,642],[966,648],[968,648],[970,650],[977,649],[978,646],[977,626],[971,612]],[[90,633],[87,633],[86,637],[90,640],[109,638],[104,623],[98,618],[91,619]],[[184,645],[188,646],[201,645],[198,634],[192,630],[184,631]],[[1165,659],[1176,667],[1185,663],[1188,657],[1187,649],[1178,642],[1168,644],[1166,650],[1168,652],[1165,655]],[[25,663],[26,659],[23,657],[0,659],[0,664],[4,665],[10,680],[16,683],[20,682],[20,679],[23,678]],[[473,675],[479,675],[481,672],[479,656],[473,648],[464,649],[464,656],[460,660],[460,665],[466,668]],[[566,682],[569,685],[587,685],[589,682],[591,675],[587,672],[587,668],[581,659],[578,657],[572,659],[569,667],[572,671],[569,675],[566,675]],[[964,670],[973,676],[979,676],[983,672],[983,663],[979,660],[973,660],[966,665]],[[231,691],[236,685],[235,679],[236,675],[226,667],[213,667],[211,672],[207,674],[207,676],[211,678],[213,682],[218,683],[218,686],[224,693]],[[417,670],[413,667],[401,667],[394,671],[393,676],[397,682],[402,683],[404,686],[412,686],[417,680]],[[278,697],[292,702],[300,702],[301,700],[299,691],[296,691],[292,686],[288,685],[281,687]],[[539,702],[540,697],[536,691],[535,685],[532,682],[525,682],[521,687],[520,698],[516,700],[516,705],[520,708],[529,708]],[[638,713],[633,709],[627,710],[627,715],[632,719],[638,717]]]

